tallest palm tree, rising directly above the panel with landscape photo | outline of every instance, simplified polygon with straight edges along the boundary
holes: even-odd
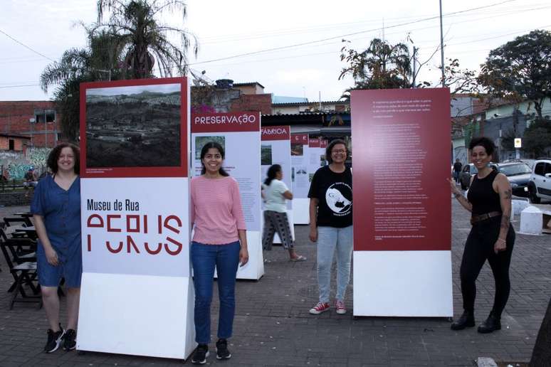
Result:
[[[182,0],[98,0],[98,22],[92,30],[107,31],[117,36],[117,49],[122,50],[124,69],[130,73],[127,78],[150,78],[153,66],[161,76],[179,75],[187,72],[187,50],[193,46],[198,51],[196,37],[183,28],[161,23],[159,17],[174,11],[186,17],[186,4]],[[107,16],[107,17],[106,17]],[[182,46],[170,41],[178,36]]]

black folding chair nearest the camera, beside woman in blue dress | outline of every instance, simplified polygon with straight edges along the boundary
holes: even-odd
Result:
[[[0,240],[0,248],[6,259],[11,275],[14,277],[14,283],[8,289],[12,292],[9,308],[14,307],[15,302],[38,302],[38,307],[42,307],[42,297],[40,295],[40,285],[38,285],[38,272],[36,271],[36,261],[23,261],[24,255],[30,255],[32,252],[31,244],[28,247],[23,246],[18,241]],[[36,260],[36,255],[35,255]],[[28,257],[31,259],[31,257]],[[31,294],[28,294],[28,291]],[[21,294],[21,297],[18,297]]]

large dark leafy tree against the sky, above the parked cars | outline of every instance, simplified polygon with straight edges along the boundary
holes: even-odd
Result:
[[[496,97],[542,104],[551,97],[551,32],[535,30],[491,50],[478,81]]]

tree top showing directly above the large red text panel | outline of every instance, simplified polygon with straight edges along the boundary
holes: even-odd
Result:
[[[349,43],[350,41],[342,40]],[[357,50],[345,45],[341,49],[340,60],[348,65],[342,68],[339,80],[351,75],[354,89],[387,89],[411,87],[411,56],[405,43],[392,45],[374,38],[366,50]]]

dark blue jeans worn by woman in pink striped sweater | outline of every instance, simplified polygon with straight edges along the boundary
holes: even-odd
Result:
[[[209,344],[211,341],[211,301],[214,269],[218,275],[220,314],[218,337],[228,339],[233,329],[236,310],[236,274],[239,265],[239,241],[227,245],[191,243],[191,265],[195,287],[195,341]]]

